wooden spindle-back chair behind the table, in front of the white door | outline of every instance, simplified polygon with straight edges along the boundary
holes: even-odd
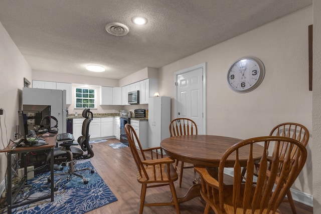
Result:
[[[181,135],[193,135],[197,134],[196,123],[189,118],[176,118],[170,123],[171,137]],[[180,187],[182,186],[183,170],[186,168],[194,168],[194,166],[184,166],[184,162],[181,161],[181,167],[178,167],[179,161],[176,160],[175,168],[180,172]]]

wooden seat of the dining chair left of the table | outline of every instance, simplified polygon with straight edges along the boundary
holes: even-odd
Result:
[[[160,170],[159,167],[162,167],[162,170]],[[155,171],[154,171],[154,168],[155,168]],[[141,176],[140,176],[140,173],[137,172],[137,180],[139,183],[163,183],[163,182],[168,183],[169,181],[176,181],[178,179],[178,174],[173,164],[170,164],[171,179],[169,179],[169,176],[167,174],[168,173],[167,164],[161,164],[161,166],[159,166],[158,164],[158,165],[155,165],[155,167],[145,166],[145,170],[147,172],[149,179],[147,179],[144,176],[144,173],[141,173]],[[162,171],[162,174],[161,174],[161,171]]]

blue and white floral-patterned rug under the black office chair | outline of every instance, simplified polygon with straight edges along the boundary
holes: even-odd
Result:
[[[75,165],[75,168],[86,167],[94,169],[90,161]],[[64,170],[68,170],[68,166],[65,166]],[[84,184],[81,178],[73,175],[69,181],[60,182],[61,185],[58,191],[55,191],[53,202],[50,199],[38,201],[14,208],[13,213],[85,213],[117,200],[96,171],[90,173],[90,170],[84,170],[80,174],[89,180],[88,184]],[[34,199],[39,195],[50,194],[50,184],[47,181],[49,175],[50,172],[41,173],[30,180],[28,182],[31,184],[30,189],[24,189],[24,193],[18,195],[17,199],[28,200],[27,197]],[[55,181],[58,179],[59,176],[55,176]]]

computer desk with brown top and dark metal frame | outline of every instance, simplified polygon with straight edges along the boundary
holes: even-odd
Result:
[[[7,189],[7,199],[8,199],[8,214],[12,213],[12,209],[15,207],[23,206],[29,203],[33,203],[39,200],[44,200],[47,198],[51,198],[51,201],[54,201],[54,147],[56,146],[56,139],[57,135],[51,136],[51,137],[43,137],[46,141],[46,145],[41,145],[41,146],[28,146],[28,147],[16,147],[13,148],[14,145],[8,145],[6,148],[3,150],[0,150],[0,152],[7,152],[8,153],[8,189]],[[25,167],[25,176],[23,177],[23,180],[18,188],[18,190],[14,193],[12,192],[12,155],[13,154],[22,154],[22,158],[24,158],[24,162],[27,163],[27,154],[29,152],[34,152],[34,151],[43,151],[43,150],[48,150],[50,149],[51,152],[51,159],[50,159],[50,172],[51,172],[51,194],[42,196],[33,200],[27,200],[25,202],[19,202],[19,203],[14,203],[19,191],[21,188],[25,185],[28,184],[27,181],[27,164],[24,166]]]

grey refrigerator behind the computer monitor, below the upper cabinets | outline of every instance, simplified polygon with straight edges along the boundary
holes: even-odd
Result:
[[[50,105],[51,116],[58,120],[58,133],[67,132],[66,90],[23,88],[23,105]]]

